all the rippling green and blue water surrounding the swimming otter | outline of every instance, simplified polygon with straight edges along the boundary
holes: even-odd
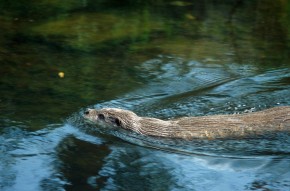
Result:
[[[0,190],[290,189],[287,134],[114,137],[80,115],[290,105],[288,1],[1,0],[0,10]]]

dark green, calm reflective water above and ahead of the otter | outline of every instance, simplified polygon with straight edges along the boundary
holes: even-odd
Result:
[[[150,79],[134,66],[157,55],[289,63],[288,1],[0,1],[0,9],[2,118],[35,127],[140,87]]]

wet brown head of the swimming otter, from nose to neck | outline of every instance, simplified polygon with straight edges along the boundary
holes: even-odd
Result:
[[[133,131],[139,126],[139,117],[135,113],[117,108],[88,109],[84,113],[84,118],[96,124]]]

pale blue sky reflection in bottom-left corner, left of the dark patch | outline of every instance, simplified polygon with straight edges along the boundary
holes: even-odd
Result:
[[[83,141],[100,145],[102,140],[90,137],[77,129],[65,125],[28,133],[17,128],[5,129],[1,138],[1,179],[4,190],[59,190],[68,184],[59,171],[65,156],[66,139],[75,136]],[[81,138],[80,138],[81,137]],[[57,156],[61,152],[63,156]],[[65,165],[65,164],[64,164]]]

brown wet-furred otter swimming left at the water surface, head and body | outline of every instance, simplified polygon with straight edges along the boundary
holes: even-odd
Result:
[[[128,110],[103,108],[88,109],[84,117],[108,128],[122,128],[146,136],[185,140],[246,138],[290,132],[289,106],[244,114],[181,117],[173,120],[140,117]]]

